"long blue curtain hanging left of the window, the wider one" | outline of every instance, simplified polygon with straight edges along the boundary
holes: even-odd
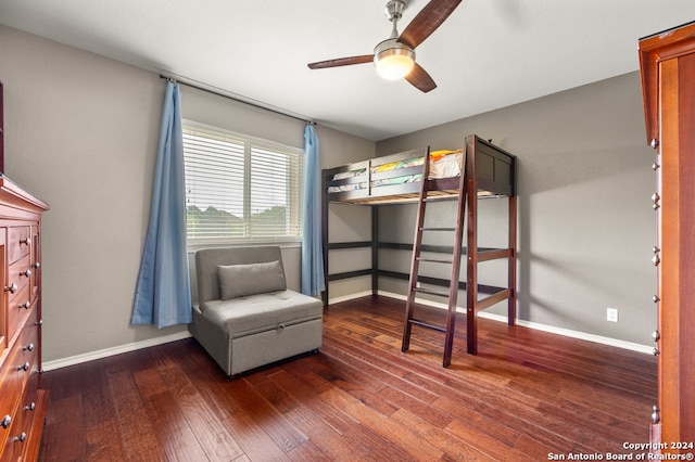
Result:
[[[191,322],[186,247],[186,192],[181,92],[166,86],[148,234],[140,262],[131,324],[159,329]]]

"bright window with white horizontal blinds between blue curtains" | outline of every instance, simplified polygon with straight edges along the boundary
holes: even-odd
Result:
[[[299,241],[303,151],[186,121],[189,243]]]

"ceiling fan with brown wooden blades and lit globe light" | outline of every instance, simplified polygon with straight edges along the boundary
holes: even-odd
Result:
[[[391,37],[377,44],[374,54],[339,57],[336,60],[309,63],[309,69],[349,66],[374,62],[377,73],[387,79],[405,78],[422,92],[437,88],[432,77],[415,62],[415,48],[422,43],[454,12],[462,0],[431,0],[399,35],[397,22],[403,16],[406,4],[404,0],[390,0],[384,9],[389,21],[393,24]]]

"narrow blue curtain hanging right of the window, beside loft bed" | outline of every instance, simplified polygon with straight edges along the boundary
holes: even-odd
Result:
[[[326,290],[321,248],[321,194],[318,137],[313,125],[304,130],[304,209],[302,230],[302,293],[320,295]]]

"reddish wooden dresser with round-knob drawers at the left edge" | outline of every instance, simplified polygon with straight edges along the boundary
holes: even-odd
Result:
[[[36,460],[47,393],[41,370],[41,214],[48,205],[0,177],[0,461]]]

